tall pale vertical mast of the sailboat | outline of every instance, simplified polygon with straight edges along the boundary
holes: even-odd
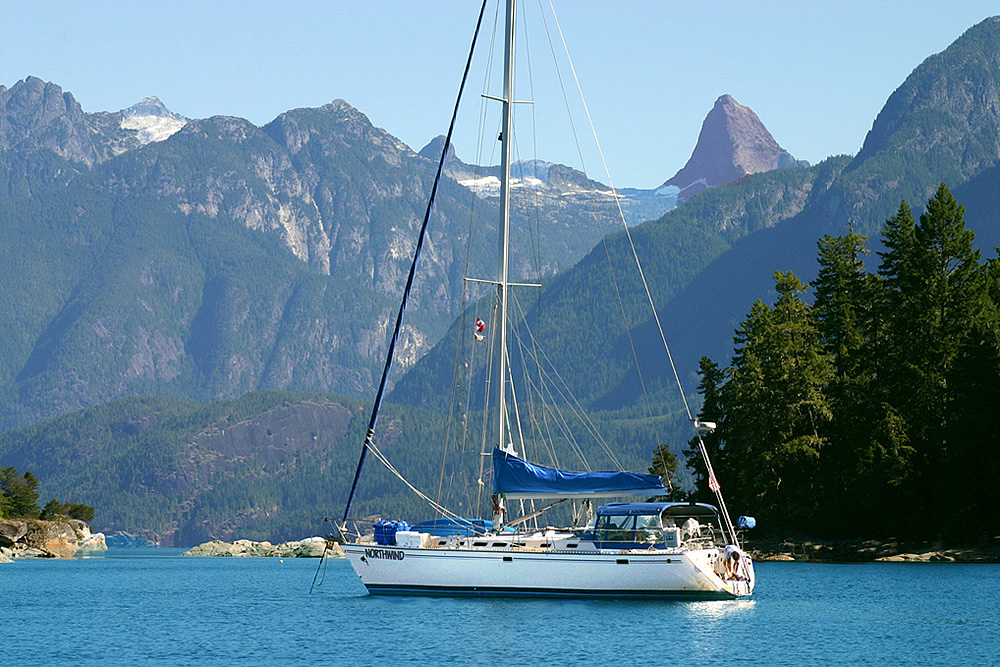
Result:
[[[510,154],[514,115],[514,14],[515,2],[507,0],[501,100],[503,109],[500,122],[500,220],[497,224],[500,234],[497,258],[497,305],[499,306],[497,310],[500,316],[497,447],[502,451],[507,449],[507,291],[509,288],[507,254],[510,242]],[[506,515],[503,498],[494,497],[493,506],[495,528],[499,530]]]

